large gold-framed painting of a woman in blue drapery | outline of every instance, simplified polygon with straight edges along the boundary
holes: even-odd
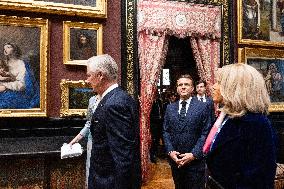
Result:
[[[0,85],[5,86],[0,117],[45,117],[48,20],[0,15],[0,36],[1,68],[9,75],[2,80],[0,74]]]

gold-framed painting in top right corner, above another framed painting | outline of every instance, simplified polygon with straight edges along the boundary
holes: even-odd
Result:
[[[238,0],[237,4],[239,44],[284,46],[282,6],[279,7],[278,3],[272,1],[258,0]]]

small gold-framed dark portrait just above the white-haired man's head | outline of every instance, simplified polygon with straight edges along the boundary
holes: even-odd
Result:
[[[103,53],[103,27],[98,23],[63,22],[63,63],[86,65]]]

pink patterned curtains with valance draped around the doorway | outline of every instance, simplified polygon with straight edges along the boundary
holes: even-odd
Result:
[[[171,10],[171,11],[169,11]],[[221,6],[173,1],[138,3],[142,175],[149,165],[149,116],[170,36],[190,37],[199,77],[212,86],[220,65]]]

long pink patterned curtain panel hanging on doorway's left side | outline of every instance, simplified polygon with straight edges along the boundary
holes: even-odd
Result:
[[[168,40],[165,33],[147,34],[142,31],[139,40],[140,89],[140,140],[142,176],[146,179],[149,170],[150,111],[160,72],[165,62]]]

